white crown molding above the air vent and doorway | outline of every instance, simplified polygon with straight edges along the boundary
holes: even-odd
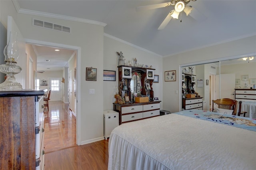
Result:
[[[76,17],[71,17],[71,16],[51,14],[51,13],[47,13],[47,12],[39,12],[39,11],[34,11],[34,10],[26,10],[26,9],[20,8],[17,0],[12,0],[12,2],[14,4],[14,7],[15,7],[16,11],[20,14],[29,14],[29,15],[35,15],[35,16],[44,16],[44,17],[49,17],[49,18],[62,19],[62,20],[84,22],[84,23],[87,23],[87,24],[94,24],[94,25],[103,26],[103,27],[107,25],[103,22],[98,22],[98,21],[93,21],[93,20],[86,20],[86,19],[83,19],[83,18],[76,18]]]

